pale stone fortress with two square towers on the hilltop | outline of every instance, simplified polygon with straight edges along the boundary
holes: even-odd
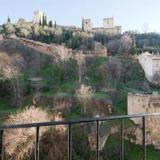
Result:
[[[121,26],[114,25],[114,19],[104,18],[103,27],[94,28],[91,19],[82,19],[82,29],[86,32],[98,32],[104,34],[121,34]]]

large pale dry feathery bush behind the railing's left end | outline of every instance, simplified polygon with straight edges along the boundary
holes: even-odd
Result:
[[[33,123],[50,121],[50,116],[45,110],[34,106],[26,107],[22,112],[17,112],[9,116],[6,125],[17,123]],[[42,127],[40,137],[48,130],[48,127]],[[7,159],[22,160],[26,156],[30,156],[34,147],[35,129],[21,128],[14,130],[6,130],[5,135],[5,151],[9,156]],[[25,147],[24,147],[25,146]],[[12,158],[10,158],[12,157]]]

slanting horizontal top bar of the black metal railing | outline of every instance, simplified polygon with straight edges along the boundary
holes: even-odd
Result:
[[[121,116],[108,116],[102,118],[90,118],[83,120],[73,120],[73,121],[51,121],[51,122],[38,122],[38,123],[26,123],[26,124],[14,124],[14,125],[2,125],[0,130],[4,129],[16,129],[16,128],[31,128],[31,127],[46,127],[46,126],[55,126],[55,125],[68,125],[68,124],[80,124],[80,123],[91,123],[98,121],[107,121],[107,120],[117,120],[117,119],[129,119],[129,118],[140,118],[147,116],[160,116],[160,113],[144,113],[144,114],[130,114],[130,115],[121,115]]]

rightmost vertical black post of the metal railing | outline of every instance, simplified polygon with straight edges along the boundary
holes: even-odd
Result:
[[[143,160],[146,160],[146,117],[142,117],[142,144],[143,144]]]

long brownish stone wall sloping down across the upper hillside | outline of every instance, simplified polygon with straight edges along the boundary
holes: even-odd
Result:
[[[39,52],[43,52],[47,55],[50,56],[55,56],[56,53],[66,55],[67,53],[71,53],[73,56],[76,53],[82,52],[86,57],[93,57],[93,56],[103,56],[107,57],[107,48],[101,45],[99,42],[95,42],[94,44],[94,50],[88,50],[88,51],[77,51],[77,50],[72,50],[70,48],[67,48],[64,45],[59,45],[59,44],[46,44],[46,43],[41,43],[38,41],[33,41],[25,38],[18,38],[16,36],[5,36],[4,37],[7,40],[13,40],[16,41],[22,45],[25,45],[27,47],[33,48]]]

